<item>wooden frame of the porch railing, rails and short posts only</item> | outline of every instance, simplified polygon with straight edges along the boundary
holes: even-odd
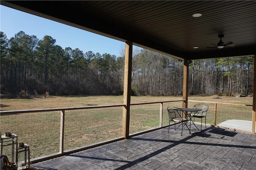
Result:
[[[148,132],[151,132],[151,131],[156,131],[158,129],[168,127],[169,125],[165,125],[165,126],[162,125],[163,104],[164,103],[171,103],[171,102],[184,102],[184,100],[130,104],[130,106],[136,106],[136,105],[158,104],[159,103],[160,104],[160,114],[159,114],[160,123],[159,123],[159,127],[148,129],[148,130],[145,130],[145,131],[140,131],[140,132],[133,133],[133,134],[129,134],[129,137],[134,137],[134,136],[137,136],[137,135],[141,135],[141,134],[144,134],[144,133],[148,133]],[[216,126],[217,104],[226,104],[226,105],[234,105],[234,106],[253,106],[253,105],[247,105],[247,104],[230,104],[230,103],[222,103],[222,102],[207,102],[207,101],[196,101],[196,100],[188,100],[187,102],[213,103],[214,104],[214,126]],[[107,107],[126,107],[126,105],[116,104],[116,105],[107,105],[107,106],[86,106],[86,107],[66,107],[66,108],[54,108],[54,109],[0,111],[0,114],[1,115],[8,115],[8,114],[20,114],[20,113],[38,113],[38,112],[60,111],[60,113],[61,113],[60,114],[60,121],[61,121],[60,122],[60,150],[59,150],[58,153],[55,153],[55,154],[50,154],[50,155],[42,156],[42,157],[39,157],[39,158],[31,159],[30,164],[34,164],[34,163],[42,162],[44,160],[49,160],[49,159],[52,159],[52,158],[63,156],[63,155],[66,155],[66,154],[71,154],[71,153],[79,152],[79,151],[82,151],[82,150],[86,150],[86,149],[90,149],[90,148],[94,148],[94,147],[106,145],[108,143],[113,143],[113,142],[116,142],[116,141],[126,139],[125,137],[118,137],[118,138],[115,138],[115,139],[110,139],[110,140],[107,140],[107,141],[94,143],[92,145],[87,145],[87,146],[84,146],[84,147],[79,147],[79,148],[70,149],[70,150],[64,150],[65,111],[66,110],[78,110],[78,109],[97,109],[97,108],[107,108]],[[174,125],[174,124],[172,124],[172,125]]]

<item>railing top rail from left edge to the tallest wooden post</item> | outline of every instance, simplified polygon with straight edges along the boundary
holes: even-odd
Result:
[[[0,111],[0,114],[2,115],[2,114],[10,114],[10,113],[35,113],[35,112],[44,112],[44,111],[95,109],[95,108],[120,107],[120,106],[124,106],[124,104],[106,105],[106,106],[66,107],[66,108],[54,108],[54,109],[32,109],[32,110]]]

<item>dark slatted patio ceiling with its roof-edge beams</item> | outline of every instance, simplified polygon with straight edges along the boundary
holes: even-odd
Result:
[[[256,54],[256,1],[6,1],[28,12],[178,59]],[[192,17],[201,13],[198,18]],[[223,42],[234,47],[214,47]],[[198,49],[193,49],[198,47]]]

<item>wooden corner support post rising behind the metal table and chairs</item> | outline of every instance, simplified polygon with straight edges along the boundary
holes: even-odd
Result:
[[[188,107],[188,60],[184,60],[183,68],[183,102],[182,107]]]

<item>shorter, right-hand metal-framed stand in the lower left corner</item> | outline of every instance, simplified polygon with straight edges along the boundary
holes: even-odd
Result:
[[[22,169],[30,169],[30,150],[29,146],[24,143],[23,147],[18,147],[18,167],[22,164]]]

